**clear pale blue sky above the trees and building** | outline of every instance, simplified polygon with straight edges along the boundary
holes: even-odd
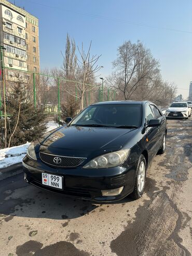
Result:
[[[14,0],[9,0],[14,3]],[[66,34],[102,55],[101,76],[112,72],[117,48],[138,39],[160,61],[163,79],[188,97],[192,80],[191,0],[15,0],[39,19],[40,68],[60,67]]]

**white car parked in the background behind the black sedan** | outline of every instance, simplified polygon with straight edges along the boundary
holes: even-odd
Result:
[[[191,108],[187,102],[173,102],[166,110],[166,117],[171,118],[188,118],[191,114]]]

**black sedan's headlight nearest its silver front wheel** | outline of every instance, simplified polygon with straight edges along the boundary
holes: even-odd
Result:
[[[130,149],[107,153],[105,155],[101,155],[93,158],[83,168],[99,169],[99,168],[115,167],[124,163],[129,153],[130,153]]]

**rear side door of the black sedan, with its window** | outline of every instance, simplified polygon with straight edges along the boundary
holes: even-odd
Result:
[[[159,129],[159,134],[158,134],[158,140],[157,140],[157,151],[160,149],[161,145],[162,145],[162,141],[163,141],[163,135],[166,131],[166,118],[164,116],[162,116],[162,114],[160,113],[160,111],[158,110],[158,108],[153,105],[153,104],[150,104],[150,107],[152,108],[152,111],[154,113],[154,118],[155,119],[160,119],[161,121],[161,124],[160,126],[158,127]]]

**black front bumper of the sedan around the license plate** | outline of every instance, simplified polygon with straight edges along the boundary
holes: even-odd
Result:
[[[62,169],[45,165],[40,159],[32,160],[28,156],[23,158],[25,181],[60,195],[96,202],[117,201],[133,191],[137,163],[127,167],[109,169],[83,169],[82,167]],[[42,173],[58,174],[63,177],[63,190],[42,184]],[[124,186],[116,196],[102,196],[101,190],[112,190]]]

